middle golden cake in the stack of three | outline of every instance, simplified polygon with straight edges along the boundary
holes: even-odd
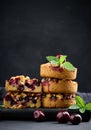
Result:
[[[78,90],[78,83],[68,79],[43,78],[41,83],[44,93],[77,93]]]

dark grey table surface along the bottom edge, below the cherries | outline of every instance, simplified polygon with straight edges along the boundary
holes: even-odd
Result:
[[[56,121],[0,121],[0,130],[91,130],[91,120],[79,125],[58,124]]]

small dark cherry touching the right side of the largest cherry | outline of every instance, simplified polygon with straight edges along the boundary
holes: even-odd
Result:
[[[70,122],[73,124],[73,125],[78,125],[80,122],[82,121],[82,117],[80,114],[72,114],[70,116]]]

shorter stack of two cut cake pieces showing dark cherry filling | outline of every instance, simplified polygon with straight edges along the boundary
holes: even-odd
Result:
[[[28,76],[14,76],[6,80],[4,106],[6,108],[39,108],[41,106],[40,81]]]

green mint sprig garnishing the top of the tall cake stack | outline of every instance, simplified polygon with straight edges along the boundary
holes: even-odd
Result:
[[[58,58],[56,56],[46,56],[46,59],[51,64],[73,71],[74,66],[70,62],[66,61],[66,58],[67,58],[66,55],[61,55],[60,58]]]

